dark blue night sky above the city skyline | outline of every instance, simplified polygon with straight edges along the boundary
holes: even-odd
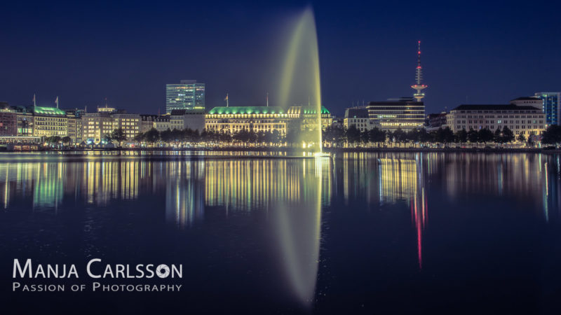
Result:
[[[555,1],[557,2],[557,1]],[[323,104],[411,96],[423,45],[427,112],[561,90],[554,1],[318,1]],[[135,113],[165,83],[206,83],[207,109],[264,104],[278,89],[287,23],[309,1],[3,1],[0,100]],[[306,100],[302,100],[306,102]]]

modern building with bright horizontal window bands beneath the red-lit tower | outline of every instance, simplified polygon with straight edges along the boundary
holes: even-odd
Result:
[[[366,106],[368,117],[380,126],[381,130],[413,130],[424,127],[425,105],[412,97],[397,100],[370,102]]]

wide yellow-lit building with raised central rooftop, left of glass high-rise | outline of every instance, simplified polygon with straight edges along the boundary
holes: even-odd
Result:
[[[87,144],[99,144],[114,130],[123,130],[127,140],[140,133],[141,117],[111,107],[100,107],[97,113],[82,116],[83,140]]]

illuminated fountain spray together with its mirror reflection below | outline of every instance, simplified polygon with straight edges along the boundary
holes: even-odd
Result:
[[[321,89],[318,38],[313,10],[306,8],[291,30],[288,50],[280,77],[278,104],[288,108],[306,100],[311,111],[304,116],[299,140],[306,148],[321,155]],[[315,112],[315,113],[314,113]],[[312,121],[312,123],[310,123]],[[311,144],[311,147],[307,146]],[[297,187],[288,200],[276,202],[273,210],[274,230],[279,245],[280,262],[288,286],[304,307],[311,307],[316,293],[320,255],[320,222],[323,190],[330,190],[324,180],[330,176],[330,160],[302,160],[302,174],[287,176]]]

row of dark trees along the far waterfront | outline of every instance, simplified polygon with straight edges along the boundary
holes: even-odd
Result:
[[[449,127],[427,131],[424,128],[393,132],[380,130],[360,131],[355,126],[348,129],[330,126],[323,130],[323,146],[325,148],[383,148],[383,147],[442,147],[442,146],[494,146],[499,148],[536,148],[540,146],[557,146],[561,144],[561,126],[550,125],[539,137],[515,136],[508,127],[480,130],[459,130],[452,132]],[[104,136],[104,142],[119,147],[145,148],[182,148],[191,146],[205,147],[292,147],[302,148],[306,139],[313,139],[312,130],[288,129],[286,134],[277,130],[271,132],[240,130],[234,134],[212,130],[165,130],[158,132],[155,128],[137,134],[134,141],[128,141],[125,132],[114,130]],[[71,147],[69,137],[48,137],[46,144],[51,148]]]

